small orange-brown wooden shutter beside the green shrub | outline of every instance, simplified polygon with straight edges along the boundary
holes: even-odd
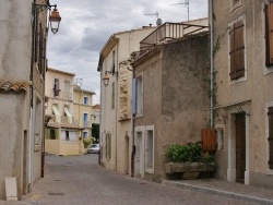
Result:
[[[216,150],[217,149],[216,130],[203,129],[201,131],[201,142],[203,150],[205,152]]]

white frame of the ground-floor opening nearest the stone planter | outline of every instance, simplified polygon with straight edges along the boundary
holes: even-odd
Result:
[[[153,145],[152,145],[152,167],[149,167],[147,165],[149,165],[149,155],[150,155],[150,150],[149,150],[149,147],[150,147],[150,145],[149,145],[149,132],[153,132]],[[154,138],[155,138],[155,133],[154,133],[154,125],[149,125],[149,126],[146,126],[146,132],[145,132],[145,172],[146,173],[154,173]]]

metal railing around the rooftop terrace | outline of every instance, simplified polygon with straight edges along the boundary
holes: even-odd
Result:
[[[140,52],[143,53],[156,44],[178,40],[185,36],[205,31],[209,31],[209,26],[166,22],[140,41]]]

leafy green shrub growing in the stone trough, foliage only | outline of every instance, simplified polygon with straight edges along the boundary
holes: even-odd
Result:
[[[199,143],[187,145],[173,144],[166,153],[166,157],[173,162],[212,162],[214,157],[209,153],[203,153]]]

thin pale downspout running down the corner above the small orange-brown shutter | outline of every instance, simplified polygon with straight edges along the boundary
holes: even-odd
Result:
[[[214,107],[214,101],[213,98],[216,97],[214,96],[214,59],[213,59],[213,0],[209,0],[209,15],[210,15],[210,37],[211,37],[211,106],[210,106],[210,116],[211,116],[211,129],[214,126],[214,119],[213,119],[213,107]]]

